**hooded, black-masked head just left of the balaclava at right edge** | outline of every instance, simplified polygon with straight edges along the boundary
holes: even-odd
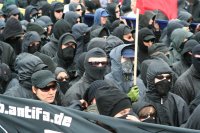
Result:
[[[183,61],[188,65],[191,66],[192,64],[192,55],[190,55],[188,52],[192,52],[192,49],[198,45],[199,43],[196,40],[188,40],[185,45],[184,48],[181,52],[181,56]]]

